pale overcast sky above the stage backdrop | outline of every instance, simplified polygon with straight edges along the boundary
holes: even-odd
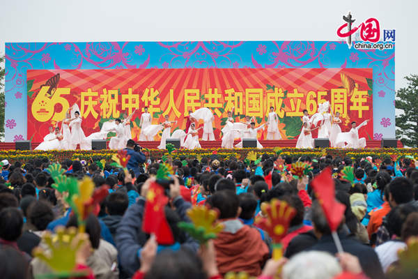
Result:
[[[396,29],[395,89],[418,74],[417,0],[0,0],[6,42],[338,40],[342,15]]]

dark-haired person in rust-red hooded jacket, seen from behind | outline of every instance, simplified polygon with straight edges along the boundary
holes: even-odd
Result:
[[[241,211],[238,196],[232,190],[220,190],[207,203],[219,210],[219,221],[224,225],[213,241],[219,273],[224,276],[229,271],[246,271],[250,276],[259,276],[269,257],[268,246],[257,229],[238,219]]]

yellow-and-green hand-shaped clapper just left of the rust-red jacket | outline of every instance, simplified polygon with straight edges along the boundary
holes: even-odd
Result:
[[[218,212],[208,209],[206,206],[193,206],[187,211],[192,223],[180,222],[178,227],[190,234],[199,243],[206,243],[209,239],[215,239],[219,232],[222,232],[224,226],[215,223]]]

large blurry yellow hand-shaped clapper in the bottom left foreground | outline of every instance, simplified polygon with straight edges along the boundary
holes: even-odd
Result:
[[[75,227],[56,227],[56,234],[44,232],[42,234],[42,243],[45,243],[47,249],[44,250],[40,246],[33,249],[33,257],[38,257],[45,262],[51,269],[52,273],[36,274],[35,278],[78,278],[84,277],[88,271],[75,271],[76,255],[79,248],[88,240],[88,236],[77,236]]]

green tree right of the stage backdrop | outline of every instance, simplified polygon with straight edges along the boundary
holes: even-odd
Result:
[[[408,86],[396,92],[395,107],[402,110],[396,117],[396,136],[405,146],[418,146],[418,75],[405,77]]]

